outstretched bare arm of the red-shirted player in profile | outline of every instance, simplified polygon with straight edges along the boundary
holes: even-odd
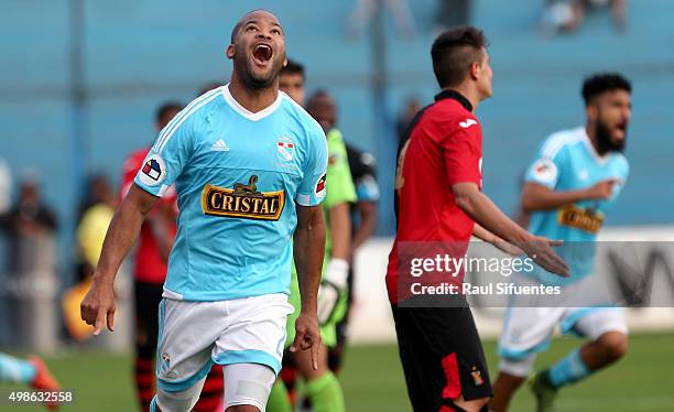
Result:
[[[456,183],[452,186],[457,206],[477,224],[496,236],[520,247],[545,270],[568,277],[568,267],[551,246],[559,242],[533,236],[512,221],[493,202],[480,192],[472,182]]]

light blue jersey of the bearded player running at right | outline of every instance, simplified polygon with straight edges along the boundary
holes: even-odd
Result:
[[[606,212],[613,204],[629,174],[622,153],[600,156],[593,147],[585,127],[552,134],[539,151],[536,161],[526,172],[526,182],[555,191],[588,188],[606,180],[617,180],[613,194],[606,200],[583,200],[550,212],[531,215],[529,230],[537,236],[561,239],[559,256],[569,264],[572,277],[562,280],[551,273],[539,273],[544,283],[570,283],[594,271],[595,240],[604,225]],[[541,270],[541,272],[544,272]]]

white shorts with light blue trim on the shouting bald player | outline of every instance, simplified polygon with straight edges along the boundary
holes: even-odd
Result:
[[[213,364],[260,364],[278,375],[292,312],[283,293],[219,302],[162,300],[157,386],[168,392],[186,390]]]

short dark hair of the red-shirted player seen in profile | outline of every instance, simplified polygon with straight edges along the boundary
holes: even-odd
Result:
[[[433,72],[441,88],[458,86],[470,65],[481,62],[482,47],[488,44],[485,33],[472,26],[460,26],[441,33],[433,42]]]

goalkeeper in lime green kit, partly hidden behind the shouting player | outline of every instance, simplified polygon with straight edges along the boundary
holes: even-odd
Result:
[[[285,87],[289,96],[301,104],[304,99],[304,68],[295,62],[289,64],[289,67],[281,73],[280,86]],[[346,410],[344,393],[339,381],[328,367],[328,348],[336,345],[336,324],[346,314],[351,236],[349,205],[356,200],[356,191],[344,140],[335,128],[337,121],[335,101],[327,93],[319,91],[309,99],[307,110],[325,130],[328,144],[326,184],[329,188],[323,203],[326,245],[323,278],[318,289],[318,322],[324,345],[318,354],[317,370],[306,367],[306,360],[302,358],[301,353],[293,356],[293,361],[289,362],[287,367],[296,368],[305,379],[307,400],[315,411],[339,412]],[[291,303],[295,312],[289,316],[286,346],[293,340],[294,322],[300,310],[298,292],[297,282],[293,279]],[[291,393],[286,392],[287,388],[284,388],[283,381],[276,382],[268,406],[271,412],[290,411],[292,403],[295,402],[295,375],[291,369],[290,372],[282,373],[282,377],[287,381]]]

